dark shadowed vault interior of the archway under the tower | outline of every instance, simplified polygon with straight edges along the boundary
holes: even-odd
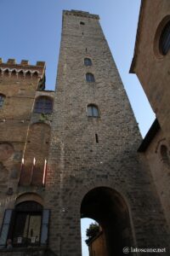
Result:
[[[102,227],[107,250],[105,256],[124,255],[123,247],[132,244],[127,204],[116,190],[106,187],[90,190],[82,200],[81,217],[93,218]]]

